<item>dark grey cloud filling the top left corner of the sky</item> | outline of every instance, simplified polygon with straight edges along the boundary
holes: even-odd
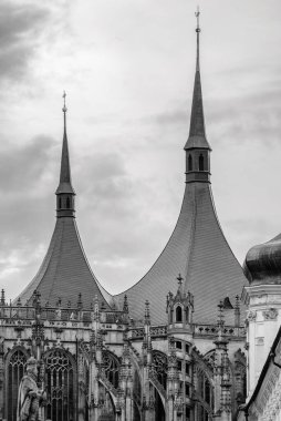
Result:
[[[19,83],[33,73],[41,50],[53,44],[66,28],[62,17],[69,8],[64,0],[44,4],[34,0],[1,1],[0,82]]]

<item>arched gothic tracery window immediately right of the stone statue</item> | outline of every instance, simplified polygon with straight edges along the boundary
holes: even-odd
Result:
[[[76,419],[74,360],[62,349],[52,349],[44,360],[48,389],[46,418],[52,421],[74,421]]]

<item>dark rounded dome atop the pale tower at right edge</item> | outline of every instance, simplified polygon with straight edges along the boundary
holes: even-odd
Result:
[[[250,284],[281,284],[281,234],[250,248],[243,267]]]

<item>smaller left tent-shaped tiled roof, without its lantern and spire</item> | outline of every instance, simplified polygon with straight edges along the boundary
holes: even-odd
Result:
[[[61,298],[62,305],[66,306],[71,301],[72,306],[76,306],[79,294],[82,294],[84,308],[91,308],[95,296],[108,308],[106,299],[110,299],[110,295],[102,289],[89,266],[74,218],[56,219],[43,263],[21,292],[21,301],[29,301],[35,289],[41,294],[42,305],[49,301],[51,306],[55,306]]]

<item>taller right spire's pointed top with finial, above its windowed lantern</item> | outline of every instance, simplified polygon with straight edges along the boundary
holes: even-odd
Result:
[[[191,107],[191,119],[190,119],[190,129],[189,137],[185,145],[185,150],[190,148],[207,148],[210,150],[210,146],[206,138],[205,133],[205,119],[204,119],[204,107],[202,107],[202,91],[201,91],[201,79],[200,79],[200,58],[199,58],[199,47],[200,39],[199,34],[201,29],[199,27],[199,8],[195,13],[197,18],[196,35],[197,35],[197,54],[196,54],[196,72],[195,72],[195,84],[194,84],[194,99]]]

